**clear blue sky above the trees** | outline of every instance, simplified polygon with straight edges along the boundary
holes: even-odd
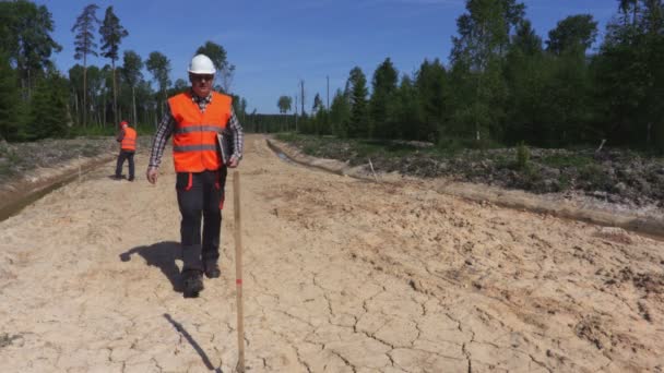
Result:
[[[313,96],[330,100],[343,88],[348,72],[358,65],[370,82],[376,67],[390,57],[401,73],[412,74],[424,59],[447,64],[455,20],[464,0],[37,0],[54,15],[54,37],[62,45],[55,56],[64,73],[73,59],[73,26],[86,4],[99,5],[104,19],[112,5],[129,32],[121,50],[132,49],[143,59],[159,51],[168,57],[171,80],[187,79],[187,64],[206,40],[226,49],[236,65],[232,89],[245,97],[248,110],[277,112],[281,95],[294,96],[305,81],[306,109]],[[591,13],[600,22],[600,35],[616,13],[617,0],[524,0],[526,17],[540,36],[564,17]],[[96,41],[100,45],[98,35]],[[106,59],[92,58],[102,67]],[[146,79],[151,79],[144,72]]]

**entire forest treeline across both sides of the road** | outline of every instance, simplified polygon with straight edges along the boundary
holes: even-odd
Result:
[[[282,115],[264,116],[248,113],[247,100],[234,95],[235,111],[249,131],[441,146],[606,141],[664,152],[664,0],[615,4],[597,40],[592,14],[560,20],[542,37],[518,0],[466,0],[448,63],[424,60],[407,74],[386,58],[370,77],[353,68],[329,107],[319,94],[307,106],[304,94],[282,96],[275,97]],[[0,136],[26,141],[91,133],[115,129],[120,118],[154,129],[166,97],[188,87],[183,80],[170,80],[166,53],[121,50],[131,31],[112,7],[98,13],[92,3],[71,25],[79,63],[61,72],[52,62],[61,46],[51,37],[48,8],[27,0],[0,2]],[[235,67],[224,47],[206,41],[195,52],[213,59],[216,88],[233,94]],[[107,63],[88,64],[93,56]]]

